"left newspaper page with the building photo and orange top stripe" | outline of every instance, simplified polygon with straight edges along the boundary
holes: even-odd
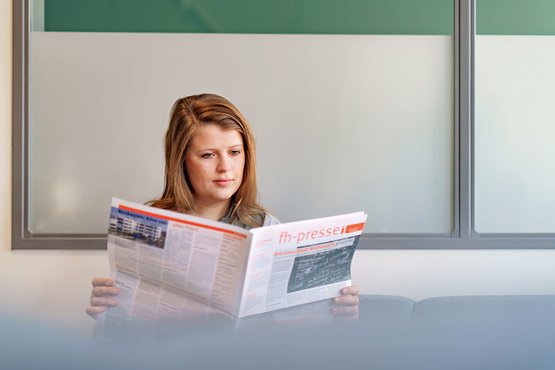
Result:
[[[108,259],[121,293],[97,330],[237,312],[250,239],[237,226],[112,199]]]

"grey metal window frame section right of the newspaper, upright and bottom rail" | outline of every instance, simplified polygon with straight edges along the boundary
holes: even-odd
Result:
[[[454,229],[442,234],[365,234],[359,249],[552,249],[555,233],[478,233],[475,229],[475,0],[454,1]]]

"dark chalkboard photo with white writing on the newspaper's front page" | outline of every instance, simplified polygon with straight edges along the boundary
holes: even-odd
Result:
[[[352,256],[359,237],[337,240],[336,245],[345,245],[340,248],[297,256],[289,276],[287,293],[350,280]]]

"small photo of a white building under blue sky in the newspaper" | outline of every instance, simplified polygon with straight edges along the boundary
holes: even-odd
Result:
[[[164,249],[168,221],[112,207],[108,233]]]

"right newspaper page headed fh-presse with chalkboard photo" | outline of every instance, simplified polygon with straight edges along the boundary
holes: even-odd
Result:
[[[366,214],[291,222],[253,233],[238,317],[341,295]]]

